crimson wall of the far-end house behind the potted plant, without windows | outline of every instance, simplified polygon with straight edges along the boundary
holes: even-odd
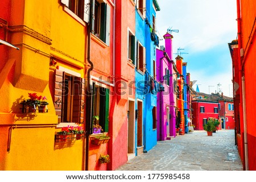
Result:
[[[204,106],[205,113],[200,113],[200,106]],[[192,124],[196,130],[204,130],[203,119],[218,119],[218,113],[214,113],[214,107],[218,107],[218,103],[192,101]]]

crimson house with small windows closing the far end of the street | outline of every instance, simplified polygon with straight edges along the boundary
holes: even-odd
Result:
[[[192,101],[192,124],[195,130],[204,130],[203,125],[209,118],[218,119],[218,102],[200,98]]]

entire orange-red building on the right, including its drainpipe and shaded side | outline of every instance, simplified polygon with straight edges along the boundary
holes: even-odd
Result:
[[[254,0],[237,0],[238,42],[234,40],[229,44],[233,63],[236,142],[246,170],[256,170],[255,6]]]

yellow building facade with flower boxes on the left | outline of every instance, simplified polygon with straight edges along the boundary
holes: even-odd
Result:
[[[61,79],[84,80],[86,75],[88,24],[83,19],[88,7],[82,1],[84,9],[79,10],[81,1],[72,2],[75,4],[52,0],[1,2],[6,12],[0,11],[0,30],[7,35],[2,39],[19,50],[3,45],[0,49],[0,170],[85,169],[85,140],[55,140],[63,126],[84,127],[84,96],[76,110],[80,118],[72,115],[75,105],[68,107],[72,110],[65,118],[69,122],[60,122],[63,118],[58,117],[58,108],[65,111],[61,109],[64,101],[56,93],[56,77],[62,74]],[[79,89],[84,92],[81,85],[83,81]],[[48,112],[23,112],[20,102],[28,99],[28,93],[46,96]],[[74,104],[75,96],[70,98]]]

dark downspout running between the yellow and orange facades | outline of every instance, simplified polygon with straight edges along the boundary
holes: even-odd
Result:
[[[90,85],[90,72],[93,70],[93,63],[90,60],[90,39],[91,39],[91,32],[92,32],[92,16],[93,13],[93,6],[92,0],[90,1],[90,24],[87,27],[88,33],[88,46],[87,46],[87,61],[90,64],[90,68],[87,72],[87,89],[86,89],[86,127],[85,127],[85,171],[88,171],[89,168],[89,137],[90,137],[90,128],[92,123],[92,85]]]

